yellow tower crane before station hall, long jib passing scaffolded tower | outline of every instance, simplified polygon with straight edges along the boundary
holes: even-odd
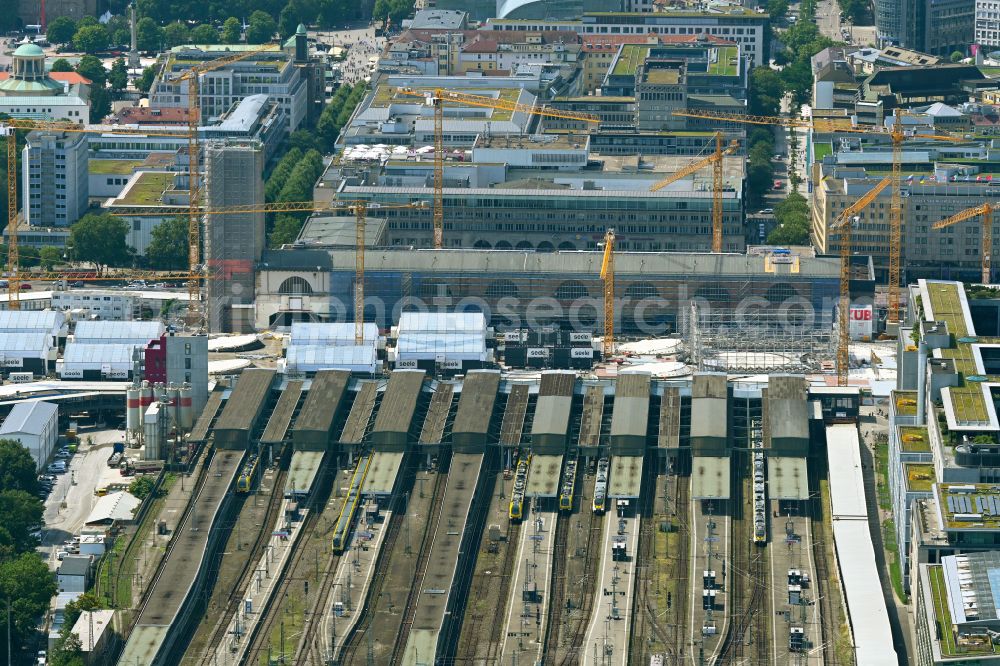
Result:
[[[354,250],[354,340],[360,345],[364,342],[365,323],[365,220],[369,211],[372,210],[399,210],[404,208],[426,208],[424,201],[415,201],[408,204],[380,204],[371,201],[341,200],[330,202],[323,201],[279,201],[276,203],[258,206],[247,204],[244,206],[224,206],[211,208],[208,210],[199,209],[199,215],[232,215],[238,213],[304,213],[304,212],[329,212],[329,211],[349,211],[354,214],[355,221],[355,250]],[[177,208],[176,214],[184,212],[186,209]],[[163,217],[168,215],[160,209],[156,213],[148,211],[125,210],[119,213],[112,213],[115,217],[142,217],[155,216]]]

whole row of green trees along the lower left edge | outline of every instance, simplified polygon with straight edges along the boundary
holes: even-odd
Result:
[[[0,609],[10,604],[11,651],[23,660],[35,637],[38,619],[56,592],[55,580],[35,548],[31,532],[42,523],[35,461],[20,442],[0,440]],[[7,652],[0,632],[0,654]]]

